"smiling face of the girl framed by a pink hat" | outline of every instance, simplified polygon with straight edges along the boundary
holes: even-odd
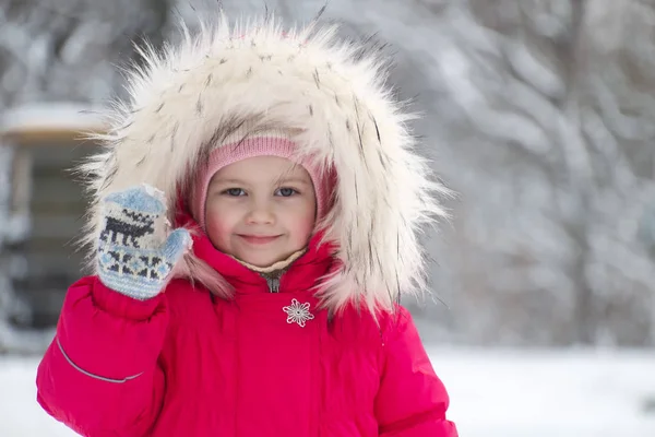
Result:
[[[207,188],[205,224],[218,250],[269,267],[302,249],[317,200],[307,170],[277,156],[255,156],[218,170]]]

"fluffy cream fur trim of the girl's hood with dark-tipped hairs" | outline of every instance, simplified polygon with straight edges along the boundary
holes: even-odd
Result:
[[[84,237],[92,265],[99,199],[145,182],[176,205],[210,147],[230,127],[255,122],[297,129],[301,153],[336,170],[334,206],[322,227],[343,268],[322,281],[323,304],[391,309],[401,293],[421,292],[418,234],[445,215],[436,196],[448,191],[414,150],[414,115],[386,87],[380,51],[340,42],[334,26],[285,31],[271,17],[230,27],[222,15],[193,35],[182,26],[182,36],[160,52],[141,49],[141,67],[129,71],[131,98],[107,111],[110,130],[94,137],[104,151],[81,167],[94,199]],[[206,265],[193,255],[183,264],[202,281]]]

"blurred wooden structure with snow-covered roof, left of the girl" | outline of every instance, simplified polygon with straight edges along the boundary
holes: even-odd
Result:
[[[29,232],[14,250],[25,274],[14,284],[33,310],[34,326],[57,320],[68,285],[81,274],[83,253],[76,241],[86,201],[70,172],[95,143],[97,117],[74,105],[40,105],[3,114],[0,144],[13,149],[11,213],[28,217]]]

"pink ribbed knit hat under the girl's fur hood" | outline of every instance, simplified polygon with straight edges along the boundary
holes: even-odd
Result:
[[[205,202],[207,188],[212,177],[230,164],[254,156],[278,156],[301,165],[313,184],[317,197],[317,221],[323,217],[329,209],[329,190],[331,177],[321,174],[321,168],[310,157],[299,158],[297,145],[290,132],[283,129],[270,129],[245,135],[242,129],[216,144],[211,152],[206,165],[202,165],[193,181],[191,191],[191,213],[200,226],[205,229]]]

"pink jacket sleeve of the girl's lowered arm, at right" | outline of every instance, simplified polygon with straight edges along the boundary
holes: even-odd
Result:
[[[434,374],[409,311],[398,307],[382,332],[384,363],[376,399],[379,435],[457,437],[445,417],[449,397]]]

